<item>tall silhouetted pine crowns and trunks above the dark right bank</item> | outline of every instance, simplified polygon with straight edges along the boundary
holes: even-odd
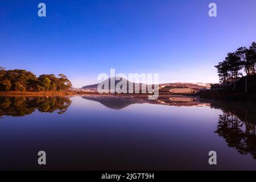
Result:
[[[255,77],[256,65],[256,43],[253,42],[249,48],[240,47],[236,52],[229,52],[224,61],[216,65],[220,82],[228,85],[243,77],[243,69],[247,77]]]

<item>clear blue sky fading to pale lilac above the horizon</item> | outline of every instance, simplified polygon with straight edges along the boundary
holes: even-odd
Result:
[[[39,18],[38,3],[47,16]],[[217,17],[208,16],[210,2]],[[256,41],[256,1],[1,1],[0,66],[63,73],[159,73],[160,82],[218,82],[214,65]]]

